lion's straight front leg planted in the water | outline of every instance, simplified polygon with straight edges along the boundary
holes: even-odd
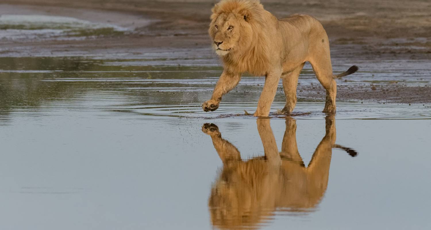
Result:
[[[268,117],[271,109],[272,101],[274,101],[275,93],[277,92],[278,82],[280,82],[281,69],[277,69],[268,73],[265,77],[265,85],[263,86],[262,94],[260,94],[257,110],[253,116]]]

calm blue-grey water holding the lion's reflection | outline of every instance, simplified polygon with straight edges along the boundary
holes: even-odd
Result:
[[[0,58],[0,228],[431,227],[430,107],[256,120],[263,79],[244,78],[204,113],[221,69],[184,62]]]

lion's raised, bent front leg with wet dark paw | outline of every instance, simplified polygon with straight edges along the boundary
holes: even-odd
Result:
[[[240,79],[240,74],[232,74],[223,71],[219,81],[215,85],[211,99],[202,104],[203,111],[208,112],[218,109],[220,101],[222,101],[222,96],[235,88],[240,82]]]

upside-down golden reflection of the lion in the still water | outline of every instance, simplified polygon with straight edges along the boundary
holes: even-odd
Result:
[[[264,157],[242,161],[240,152],[222,139],[214,124],[204,124],[215,150],[223,161],[219,178],[209,197],[212,224],[219,228],[256,228],[268,221],[274,211],[297,214],[312,211],[328,185],[332,148],[342,148],[351,156],[356,151],[334,146],[335,120],[326,119],[326,134],[317,146],[308,167],[304,166],[296,142],[296,122],[286,120],[281,152],[278,152],[269,120],[258,119]]]

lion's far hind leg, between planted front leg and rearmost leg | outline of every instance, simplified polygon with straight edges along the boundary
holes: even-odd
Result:
[[[283,79],[284,95],[286,95],[286,105],[284,105],[281,113],[290,114],[295,108],[297,103],[297,85],[299,74],[304,67],[305,63],[300,64],[293,71],[283,73],[281,79]]]

